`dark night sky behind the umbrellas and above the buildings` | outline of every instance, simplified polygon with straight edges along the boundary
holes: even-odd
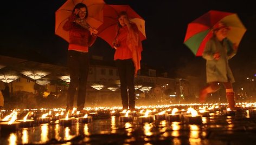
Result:
[[[66,64],[68,43],[54,34],[55,11],[66,0],[6,1],[1,5],[0,55],[52,64]],[[255,1],[112,0],[107,4],[129,4],[145,19],[142,63],[163,68],[172,77],[205,75],[205,60],[195,57],[183,44],[187,24],[209,10],[238,14],[247,28],[238,54],[230,61],[236,76],[256,74]],[[92,55],[112,60],[114,50],[98,38]]]

